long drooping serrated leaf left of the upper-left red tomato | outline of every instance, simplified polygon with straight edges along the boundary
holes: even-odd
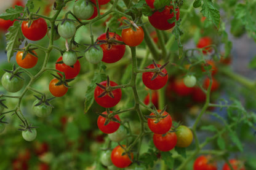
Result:
[[[20,44],[24,41],[24,36],[22,34],[22,29],[20,28],[20,22],[15,21],[13,26],[8,29],[9,32],[6,33],[6,51],[7,60],[10,62],[10,58],[14,55],[14,49],[18,48]]]

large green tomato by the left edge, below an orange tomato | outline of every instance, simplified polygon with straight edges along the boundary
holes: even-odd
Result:
[[[12,93],[20,91],[24,85],[24,80],[16,76],[14,76],[12,80],[10,80],[11,76],[12,74],[10,74],[9,72],[6,72],[4,73],[4,75],[2,75],[2,87],[4,87],[7,91]]]

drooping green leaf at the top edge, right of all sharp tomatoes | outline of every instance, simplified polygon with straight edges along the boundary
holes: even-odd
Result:
[[[217,27],[220,27],[220,12],[216,9],[211,0],[203,0],[201,13],[207,20],[212,21],[212,23]]]

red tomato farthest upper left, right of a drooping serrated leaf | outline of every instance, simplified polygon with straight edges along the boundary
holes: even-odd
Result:
[[[44,36],[46,36],[47,33],[46,20],[44,20],[44,18],[38,18],[37,20],[33,21],[30,27],[28,27],[28,21],[23,21],[22,33],[31,41],[41,40]]]

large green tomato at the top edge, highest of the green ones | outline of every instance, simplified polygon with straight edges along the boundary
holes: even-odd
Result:
[[[74,2],[73,13],[79,19],[87,20],[94,14],[94,6],[90,1],[78,0]]]

